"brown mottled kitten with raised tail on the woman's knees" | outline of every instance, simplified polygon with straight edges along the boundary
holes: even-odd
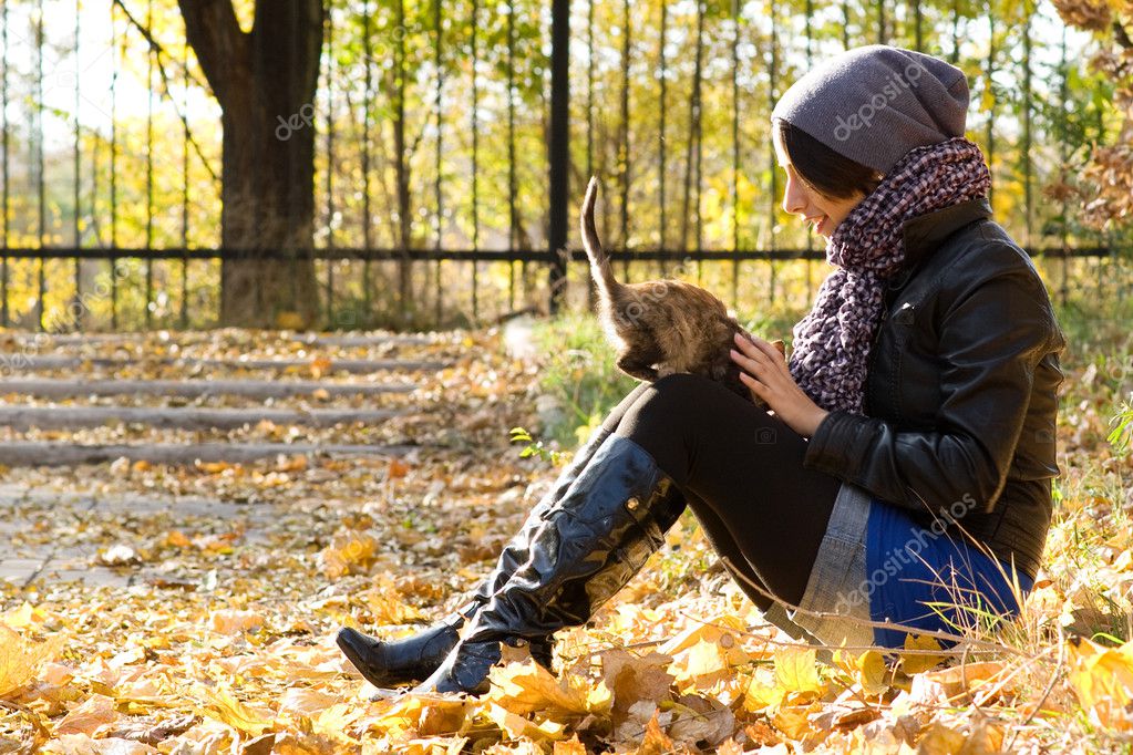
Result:
[[[582,200],[582,242],[598,289],[598,318],[617,350],[617,367],[651,383],[674,372],[702,375],[751,401],[740,381],[740,368],[729,357],[732,337],[742,333],[724,302],[682,281],[619,283],[602,249],[594,224],[598,179],[593,177]]]

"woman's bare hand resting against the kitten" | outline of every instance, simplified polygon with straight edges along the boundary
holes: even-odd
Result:
[[[740,366],[740,380],[792,430],[806,438],[815,435],[826,418],[826,410],[802,392],[791,377],[786,359],[775,346],[755,336],[752,341],[735,334],[731,355]]]

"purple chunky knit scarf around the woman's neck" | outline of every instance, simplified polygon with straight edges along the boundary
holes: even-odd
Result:
[[[791,375],[816,404],[862,413],[885,281],[905,258],[905,221],[986,197],[990,186],[983,153],[968,139],[918,147],[835,229],[826,259],[837,269],[823,282],[810,314],[794,326],[791,354]]]

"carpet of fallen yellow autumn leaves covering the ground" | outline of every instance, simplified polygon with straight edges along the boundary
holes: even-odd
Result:
[[[128,352],[136,364],[109,377],[161,376],[152,358],[170,350],[310,360],[280,379],[394,379],[322,375],[323,360],[349,350],[233,331],[145,336]],[[25,495],[5,509],[20,515],[10,547],[85,547],[108,578],[0,582],[0,753],[1089,752],[1133,731],[1133,649],[1071,637],[1098,619],[1099,584],[1116,591],[1110,607],[1127,600],[1127,549],[1041,574],[1017,626],[962,657],[914,642],[897,659],[837,651],[827,663],[763,620],[688,517],[587,626],[557,635],[554,675],[516,651],[479,698],[375,689],[343,661],[335,630],[397,636],[457,606],[555,473],[508,440],[516,426],[540,430],[538,359],[512,355],[495,329],[436,334],[392,355],[451,366],[380,401],[276,402],[404,410],[378,426],[51,437],[416,445],[404,457],[3,471],[5,490]],[[1105,469],[1105,430],[1089,397],[1064,419],[1079,504],[1053,531],[1057,554],[1071,551],[1072,530],[1104,532],[1085,522],[1097,511],[1128,505],[1100,492],[1081,503],[1099,475],[1125,489],[1122,462]],[[1102,469],[1089,466],[1099,456]],[[114,505],[135,499],[150,505]]]

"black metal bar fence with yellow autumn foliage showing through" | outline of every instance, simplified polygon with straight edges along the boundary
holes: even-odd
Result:
[[[0,2],[0,320],[212,325],[225,254],[220,117],[176,1]],[[264,138],[317,129],[330,327],[406,323],[395,315],[408,309],[418,326],[482,321],[545,304],[548,269],[586,281],[555,251],[553,226],[574,217],[591,173],[605,179],[602,220],[628,275],[688,260],[683,274],[734,302],[752,290],[808,298],[819,244],[778,206],[768,117],[812,61],[872,42],[964,68],[998,218],[1056,258],[1048,280],[1064,297],[1105,284],[1119,255],[1077,223],[1065,191],[1042,194],[1105,139],[1107,106],[1087,40],[1047,3],[574,0],[557,26],[534,0],[327,7],[318,96]],[[555,31],[570,55],[553,87]],[[566,139],[548,139],[555,103]],[[565,195],[548,178],[555,161]],[[391,272],[407,257],[409,300]],[[791,259],[810,261],[795,274]],[[1098,273],[1083,277],[1085,266]],[[571,285],[568,302],[587,290]]]

